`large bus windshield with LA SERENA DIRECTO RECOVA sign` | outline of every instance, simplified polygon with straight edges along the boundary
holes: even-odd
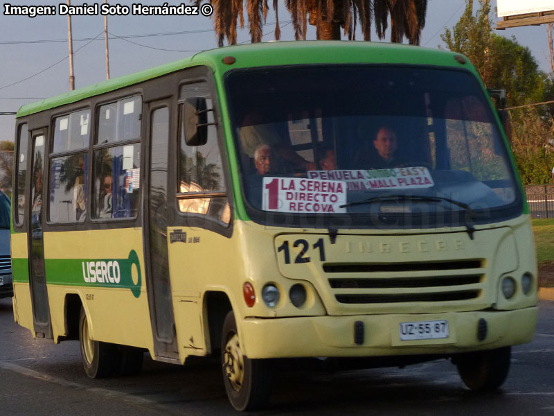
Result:
[[[244,69],[229,73],[226,92],[251,213],[431,223],[521,214],[506,146],[467,71]]]

